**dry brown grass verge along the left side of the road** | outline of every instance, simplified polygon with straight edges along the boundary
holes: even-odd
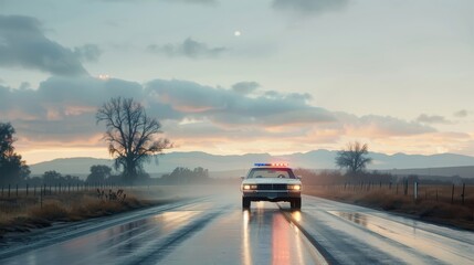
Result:
[[[160,190],[125,191],[125,200],[99,199],[96,191],[40,197],[0,198],[0,239],[8,232],[28,232],[54,222],[74,222],[175,201]],[[151,198],[151,199],[147,199]]]

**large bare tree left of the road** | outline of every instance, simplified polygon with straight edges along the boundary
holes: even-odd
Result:
[[[105,103],[96,114],[97,124],[105,123],[105,140],[108,151],[115,158],[115,168],[124,168],[128,182],[143,173],[143,163],[154,155],[161,153],[172,145],[161,134],[160,123],[147,116],[145,108],[133,98],[115,97]]]

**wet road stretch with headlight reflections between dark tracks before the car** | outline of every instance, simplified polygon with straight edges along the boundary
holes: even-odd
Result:
[[[230,206],[162,264],[316,264],[317,253],[273,203]]]

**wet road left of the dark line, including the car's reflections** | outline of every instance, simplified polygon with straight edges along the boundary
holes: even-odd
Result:
[[[1,264],[315,264],[317,253],[274,203],[250,211],[213,197],[86,233]],[[319,257],[320,258],[320,257]]]

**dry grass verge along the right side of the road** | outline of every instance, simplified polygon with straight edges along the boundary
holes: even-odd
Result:
[[[451,203],[451,186],[421,187],[417,200],[413,198],[412,187],[409,191],[409,194],[404,195],[402,189],[397,192],[394,187],[389,189],[389,187],[377,186],[368,189],[367,187],[305,186],[304,193],[474,230],[474,187],[466,187],[464,204],[462,204],[460,188],[455,189],[453,203]]]

